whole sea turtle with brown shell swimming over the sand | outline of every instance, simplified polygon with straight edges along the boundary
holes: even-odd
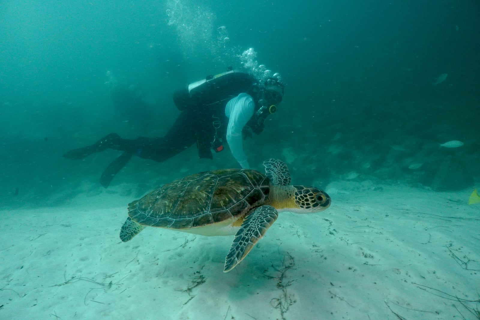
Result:
[[[225,258],[232,270],[275,222],[278,212],[314,213],[330,197],[314,187],[290,185],[285,163],[264,161],[266,175],[252,169],[201,172],[170,182],[128,205],[120,239],[129,241],[145,226],[204,236],[235,235]]]

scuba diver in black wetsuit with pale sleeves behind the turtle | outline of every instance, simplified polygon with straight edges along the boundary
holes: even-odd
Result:
[[[129,140],[110,133],[63,156],[83,159],[106,149],[123,151],[100,178],[105,188],[133,155],[162,162],[194,143],[200,158],[213,159],[212,149],[221,152],[226,140],[239,165],[249,168],[242,140],[252,136],[252,132],[262,132],[265,118],[276,112],[283,94],[284,84],[278,73],[260,85],[252,75],[230,67],[226,72],[207,76],[174,92],[174,103],[181,112],[165,136]]]

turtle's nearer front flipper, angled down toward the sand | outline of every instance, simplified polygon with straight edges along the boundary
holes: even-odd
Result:
[[[230,251],[225,258],[225,268],[223,272],[228,272],[235,268],[240,261],[247,256],[257,241],[264,236],[267,229],[275,222],[278,213],[275,208],[269,205],[263,205],[253,210],[237,231],[233,239]]]

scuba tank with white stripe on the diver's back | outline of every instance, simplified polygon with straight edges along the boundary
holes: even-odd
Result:
[[[250,92],[255,83],[250,74],[228,67],[226,72],[206,76],[175,90],[173,101],[180,111],[207,107],[229,100],[242,92]]]

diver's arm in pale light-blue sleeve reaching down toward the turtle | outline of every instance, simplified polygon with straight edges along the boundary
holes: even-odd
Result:
[[[233,104],[233,105],[231,105]],[[228,102],[230,108],[227,127],[227,142],[233,157],[244,169],[249,168],[247,156],[243,152],[242,129],[252,118],[255,103],[250,95],[240,94]]]

